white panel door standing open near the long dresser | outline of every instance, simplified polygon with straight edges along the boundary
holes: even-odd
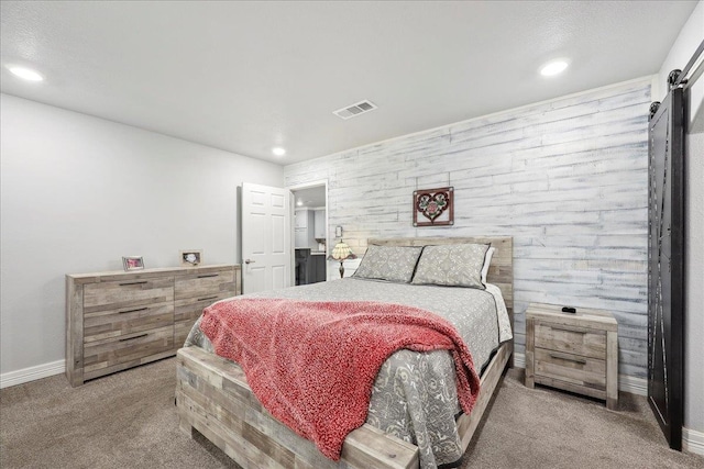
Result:
[[[290,191],[242,185],[242,291],[268,291],[292,282]]]

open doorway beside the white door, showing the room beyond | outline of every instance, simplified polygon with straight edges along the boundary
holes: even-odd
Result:
[[[289,188],[294,196],[295,284],[326,281],[328,181]]]

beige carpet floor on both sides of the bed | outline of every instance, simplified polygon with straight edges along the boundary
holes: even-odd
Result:
[[[175,359],[73,389],[55,376],[0,391],[2,468],[237,467],[204,437],[178,429]],[[668,448],[645,398],[618,412],[509,370],[463,468],[704,468]]]

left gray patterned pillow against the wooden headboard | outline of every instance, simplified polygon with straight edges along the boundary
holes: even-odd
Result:
[[[422,247],[370,246],[352,277],[408,283]]]

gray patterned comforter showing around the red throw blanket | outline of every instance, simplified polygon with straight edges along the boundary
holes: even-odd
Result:
[[[235,297],[229,300],[237,301]],[[501,292],[454,287],[416,286],[363,279],[341,279],[284,290],[248,294],[248,298],[286,298],[308,301],[383,301],[431,311],[450,321],[464,342],[479,371],[492,351],[512,338],[510,323]],[[200,320],[185,346],[213,351],[200,331]],[[455,416],[454,364],[448,350],[399,350],[378,372],[366,422],[420,449],[420,467],[436,468],[461,459]]]

